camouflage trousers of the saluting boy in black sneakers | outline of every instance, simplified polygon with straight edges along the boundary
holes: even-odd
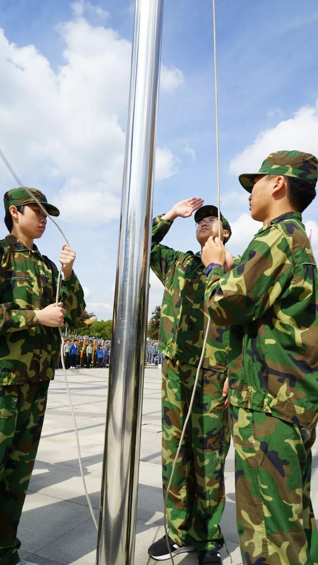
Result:
[[[162,364],[162,480],[164,495],[194,386],[196,367]],[[201,370],[194,406],[167,501],[169,536],[179,546],[224,544],[218,525],[225,505],[224,464],[230,445],[224,373]]]

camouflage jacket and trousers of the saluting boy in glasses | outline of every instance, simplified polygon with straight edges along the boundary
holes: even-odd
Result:
[[[164,493],[188,413],[207,329],[206,277],[200,253],[160,245],[171,220],[153,220],[151,268],[165,286],[158,350],[162,365],[162,479]],[[230,433],[222,389],[229,332],[210,328],[179,464],[167,501],[169,537],[179,546],[217,549],[225,504],[224,464]]]

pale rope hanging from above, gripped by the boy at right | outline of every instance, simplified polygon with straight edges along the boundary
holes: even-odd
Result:
[[[220,163],[219,163],[219,157],[218,157],[219,153],[218,153],[218,103],[217,103],[216,14],[215,14],[215,0],[213,0],[213,42],[214,42],[214,86],[215,86],[215,102],[216,102],[216,157],[217,157],[217,213],[218,213],[218,238],[219,238],[219,240],[221,240]],[[192,406],[193,406],[193,403],[194,403],[194,398],[195,398],[195,393],[196,393],[196,388],[197,388],[197,382],[199,381],[199,376],[200,376],[201,364],[202,364],[203,358],[204,358],[205,345],[207,344],[209,327],[210,327],[210,318],[208,318],[207,331],[205,332],[204,341],[203,341],[203,347],[202,347],[202,353],[201,353],[199,365],[197,366],[196,377],[195,377],[195,381],[194,381],[194,388],[193,388],[193,391],[192,391],[192,396],[191,396],[191,401],[190,401],[190,405],[189,405],[188,414],[187,414],[186,420],[184,421],[184,426],[183,426],[183,429],[182,429],[182,434],[181,434],[181,438],[180,438],[180,441],[179,441],[179,446],[178,446],[177,453],[175,454],[175,458],[174,458],[174,462],[173,462],[173,467],[172,467],[172,471],[171,471],[170,481],[169,481],[169,483],[168,483],[167,490],[166,490],[166,494],[165,494],[164,527],[165,527],[165,534],[166,534],[166,544],[167,544],[167,548],[169,549],[169,554],[170,554],[170,559],[171,559],[172,565],[174,565],[174,560],[173,560],[173,556],[172,556],[172,553],[171,553],[171,550],[170,550],[169,539],[168,539],[168,531],[167,531],[167,501],[168,501],[168,497],[169,497],[169,491],[170,491],[170,488],[171,488],[171,484],[172,484],[172,481],[173,481],[173,476],[174,476],[175,468],[177,467],[177,462],[178,462],[178,458],[179,458],[179,455],[180,455],[180,451],[181,451],[181,447],[182,447],[182,442],[183,442],[184,434],[186,433],[188,421],[189,421],[190,416],[191,416]]]

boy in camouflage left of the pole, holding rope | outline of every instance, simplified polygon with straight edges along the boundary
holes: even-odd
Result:
[[[31,192],[50,215],[59,215],[40,190]],[[75,251],[63,245],[64,280],[55,306],[57,267],[33,244],[46,226],[35,199],[15,188],[4,203],[10,234],[0,241],[0,563],[15,565],[22,563],[16,532],[59,360],[58,328],[76,325],[85,302],[73,271]]]

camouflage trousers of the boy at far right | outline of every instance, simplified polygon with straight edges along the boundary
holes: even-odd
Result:
[[[230,406],[235,492],[244,565],[317,565],[310,501],[316,429]]]

